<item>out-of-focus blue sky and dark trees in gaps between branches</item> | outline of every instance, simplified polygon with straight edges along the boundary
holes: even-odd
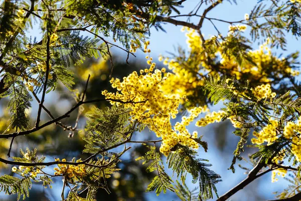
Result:
[[[230,4],[224,1],[221,5],[216,7],[213,11],[208,14],[208,17],[215,17],[219,19],[224,19],[228,21],[242,20],[246,13],[250,13],[257,0],[237,0],[237,5]],[[181,14],[188,14],[192,11],[196,5],[199,3],[197,0],[190,0],[183,3],[184,8],[180,9]],[[180,19],[179,19],[180,20]],[[182,20],[187,20],[182,18]],[[197,23],[197,19],[191,18],[191,22]],[[216,23],[220,31],[226,35],[228,31],[228,24]],[[163,31],[157,31],[156,29],[151,29],[150,31],[150,45],[149,48],[152,50],[150,55],[154,58],[155,62],[158,64],[158,68],[163,67],[163,63],[159,62],[156,58],[160,54],[165,56],[171,55],[171,53],[176,53],[177,48],[180,46],[183,49],[187,49],[185,33],[181,32],[182,27],[175,26],[171,24],[166,24]],[[210,37],[216,34],[214,27],[210,22],[206,22],[203,25],[202,32],[204,36]],[[38,28],[33,28],[29,30],[28,34],[37,37],[37,40],[41,38],[41,32]],[[248,35],[248,30],[245,32]],[[85,35],[85,33],[83,33]],[[108,41],[113,42],[110,38]],[[119,45],[119,44],[118,44]],[[287,34],[287,52],[275,49],[277,54],[283,53],[287,55],[293,51],[296,51],[300,47],[300,41],[294,39],[290,34]],[[253,44],[253,48],[257,49],[258,44]],[[112,77],[122,78],[127,76],[134,70],[143,69],[148,67],[145,60],[145,54],[142,51],[137,51],[135,53],[136,57],[130,56],[126,64],[126,52],[120,51],[117,48],[111,48],[113,53],[114,70]],[[109,72],[110,72],[110,62],[105,60],[106,58],[100,59],[86,59],[85,62],[78,66],[73,66],[72,70],[75,73],[75,83],[74,89],[78,89],[80,92],[83,90],[88,74],[91,74],[87,89],[87,100],[101,98],[101,91],[104,89],[111,90],[109,84]],[[68,111],[74,104],[74,96],[76,96],[76,91],[70,92],[63,84],[58,85],[55,91],[51,91],[46,95],[46,108],[51,111],[54,117],[63,115]],[[0,132],[3,132],[7,126],[7,120],[9,119],[9,114],[7,110],[8,100],[2,98],[0,100]],[[37,115],[37,102],[32,103],[32,110],[28,111],[29,118],[32,119],[31,125],[34,125],[34,121]],[[99,108],[105,108],[108,105],[106,103],[99,103],[95,105]],[[89,112],[92,105],[84,106],[84,113]],[[218,104],[211,106],[211,111],[218,111],[223,107],[223,104]],[[66,119],[62,123],[67,126],[74,126],[78,113],[74,111],[70,118]],[[200,117],[203,117],[201,115]],[[178,117],[174,121],[179,121],[181,117]],[[46,113],[42,113],[42,121],[49,121],[50,118]],[[86,118],[80,116],[77,129],[82,130],[85,126]],[[205,153],[202,148],[199,149],[199,157],[208,159],[212,164],[211,169],[222,176],[223,181],[217,184],[217,189],[219,195],[222,195],[236,184],[238,184],[242,179],[246,177],[245,170],[238,167],[238,164],[242,164],[246,167],[251,167],[245,161],[238,161],[235,165],[236,172],[232,173],[228,170],[232,160],[232,153],[236,148],[239,137],[235,136],[232,132],[234,128],[232,124],[227,120],[219,124],[212,124],[204,128],[197,128],[194,124],[189,127],[192,132],[197,130],[200,135],[204,135],[203,140],[208,142],[208,152]],[[66,160],[71,160],[72,157],[76,158],[87,158],[88,156],[82,154],[85,142],[82,137],[85,135],[84,132],[74,132],[64,131],[61,127],[57,125],[51,125],[46,127],[39,132],[35,132],[26,137],[18,137],[15,139],[13,144],[13,149],[11,155],[17,156],[19,154],[19,149],[25,149],[29,147],[38,149],[38,154],[47,156],[46,161],[53,161],[54,157],[60,159],[66,158]],[[136,133],[134,135],[135,140],[150,140],[156,139],[153,133],[150,133],[145,129],[142,133]],[[249,138],[249,140],[251,137]],[[248,142],[248,144],[251,144]],[[0,141],[0,153],[1,157],[7,158],[8,148],[10,146],[10,140],[2,139]],[[156,196],[155,192],[144,192],[147,184],[154,177],[153,174],[146,173],[145,167],[140,163],[135,161],[135,158],[142,155],[145,152],[143,146],[137,144],[131,145],[132,149],[129,154],[124,154],[121,158],[122,162],[119,164],[121,170],[119,173],[115,173],[109,179],[111,194],[107,194],[105,190],[100,189],[98,193],[98,200],[179,200],[175,193],[167,192],[166,194],[161,194]],[[118,151],[118,150],[116,150]],[[255,152],[254,148],[246,148],[245,152],[242,154],[246,159],[250,153]],[[163,157],[165,160],[165,157]],[[11,172],[11,166],[0,164],[1,174],[13,174]],[[46,169],[53,173],[53,168],[56,166],[47,167]],[[171,171],[167,170],[170,174]],[[175,177],[174,181],[176,180]],[[197,185],[191,183],[191,177],[186,179],[187,185],[192,189]],[[59,178],[54,179],[53,188],[44,188],[39,184],[34,184],[32,190],[30,191],[30,197],[26,200],[60,200],[62,180]],[[274,197],[273,192],[281,191],[286,187],[288,183],[279,178],[278,182],[271,183],[271,173],[268,173],[259,179],[253,181],[244,189],[238,191],[229,200],[242,200],[241,197],[246,199],[243,200],[266,200],[272,199]],[[68,189],[66,188],[66,194]],[[7,196],[1,194],[0,200],[16,200],[16,196]]]

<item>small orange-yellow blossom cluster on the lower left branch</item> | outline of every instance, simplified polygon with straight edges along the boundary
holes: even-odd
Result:
[[[60,161],[59,158],[56,158],[55,161]],[[62,159],[63,162],[66,161],[66,159]],[[76,162],[82,162],[82,160],[77,160]],[[70,179],[77,179],[77,177],[82,177],[86,174],[85,165],[65,165],[65,164],[58,164],[58,167],[54,168],[55,175],[64,175],[67,178]]]

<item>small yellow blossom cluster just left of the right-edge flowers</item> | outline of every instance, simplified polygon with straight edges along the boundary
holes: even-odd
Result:
[[[278,139],[277,136],[277,127],[278,122],[273,119],[269,119],[269,124],[262,128],[262,130],[257,133],[256,131],[253,132],[253,136],[256,138],[252,138],[253,144],[262,144],[263,142],[267,142],[268,145],[272,144],[275,140]]]

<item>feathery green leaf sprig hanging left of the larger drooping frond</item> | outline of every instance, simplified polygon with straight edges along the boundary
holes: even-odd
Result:
[[[162,191],[166,193],[167,189],[174,192],[175,188],[172,184],[173,180],[165,172],[163,161],[160,157],[160,154],[156,151],[156,146],[145,146],[149,149],[149,151],[147,151],[144,156],[136,158],[136,160],[143,161],[142,164],[148,163],[148,167],[146,168],[147,172],[157,171],[158,173],[152,182],[148,184],[146,191],[156,190],[157,195],[159,195]]]

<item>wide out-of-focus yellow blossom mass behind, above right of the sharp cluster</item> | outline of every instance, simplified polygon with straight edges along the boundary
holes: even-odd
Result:
[[[245,17],[247,19],[248,15]],[[231,29],[237,29],[237,27]],[[244,29],[244,27],[242,26],[239,29]],[[228,45],[227,40],[220,42],[220,46],[213,45],[210,49],[204,49],[202,39],[195,30],[185,27],[182,30],[187,32],[186,37],[189,51],[184,57],[186,59],[179,59],[180,57],[170,59],[162,55],[159,56],[159,61],[163,61],[163,64],[167,65],[168,69],[171,70],[169,79],[166,80],[166,84],[162,87],[165,93],[178,94],[180,97],[183,95],[195,95],[196,91],[198,91],[196,89],[205,83],[204,74],[215,75],[219,73],[209,65],[209,59],[220,60],[219,71],[227,71],[230,76],[236,76],[238,80],[244,77],[244,79],[250,81],[251,87],[255,87],[254,83],[266,83],[270,81],[267,71],[275,72],[277,78],[280,78],[283,73],[293,76],[299,73],[292,70],[287,65],[285,59],[279,59],[272,55],[268,47],[271,43],[269,38],[260,45],[258,50],[245,52],[252,62],[245,61],[238,63],[236,57],[224,51]],[[234,36],[228,36],[227,39],[231,40],[231,37]],[[213,36],[207,39],[205,43],[214,44],[218,39],[219,37]],[[181,56],[181,58],[183,57]],[[149,65],[151,63],[151,61],[148,61]],[[271,94],[271,96],[274,95],[274,93]],[[181,104],[184,104],[183,99],[181,100]]]

